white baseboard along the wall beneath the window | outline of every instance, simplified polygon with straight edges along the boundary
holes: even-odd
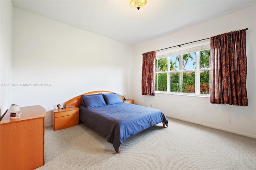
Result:
[[[218,126],[214,126],[214,125],[208,125],[208,124],[206,124],[206,123],[201,123],[201,122],[198,122],[198,121],[192,121],[192,120],[188,120],[188,119],[183,119],[183,118],[180,118],[180,117],[175,117],[175,116],[170,116],[170,115],[168,115],[168,117],[171,117],[171,118],[173,118],[173,119],[179,119],[179,120],[182,120],[182,121],[187,121],[187,122],[190,122],[190,123],[195,123],[195,124],[202,125],[202,126],[206,126],[206,127],[211,127],[211,128],[213,128],[213,129],[218,129],[218,130],[222,130],[222,131],[226,131],[226,132],[230,132],[230,133],[235,133],[235,134],[238,134],[238,135],[242,135],[242,136],[251,137],[251,138],[256,139],[256,135],[251,135],[251,134],[248,134],[248,133],[243,133],[243,132],[239,132],[239,131],[234,131],[234,130],[231,130],[231,129],[226,129],[226,128],[218,127]]]

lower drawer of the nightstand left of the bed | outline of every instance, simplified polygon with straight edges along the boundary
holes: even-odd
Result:
[[[78,124],[79,124],[79,114],[55,118],[55,130],[72,127]]]

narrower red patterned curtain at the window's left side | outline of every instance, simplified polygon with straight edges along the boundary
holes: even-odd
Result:
[[[155,96],[156,51],[144,53],[142,61],[142,95]]]

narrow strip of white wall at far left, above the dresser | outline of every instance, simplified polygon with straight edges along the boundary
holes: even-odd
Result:
[[[12,87],[12,1],[0,1],[0,113],[11,106]]]

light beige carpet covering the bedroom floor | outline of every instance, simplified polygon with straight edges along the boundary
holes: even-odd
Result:
[[[256,170],[256,139],[169,119],[111,143],[80,123],[45,129],[45,165],[36,170]]]

